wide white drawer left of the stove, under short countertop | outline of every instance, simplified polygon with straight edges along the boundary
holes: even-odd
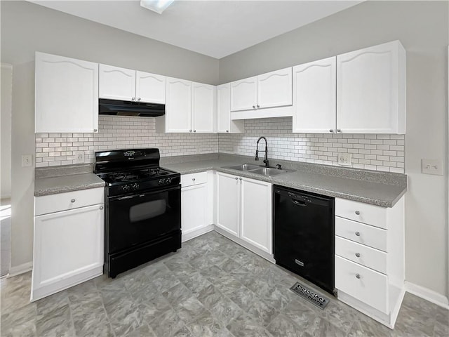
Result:
[[[105,188],[90,188],[86,190],[44,195],[34,198],[34,215],[67,211],[79,207],[104,204]]]

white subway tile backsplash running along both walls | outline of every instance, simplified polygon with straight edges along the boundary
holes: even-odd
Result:
[[[354,168],[404,173],[403,135],[292,133],[291,117],[247,119],[245,133],[219,135],[156,133],[155,122],[100,116],[98,133],[36,133],[36,167],[74,164],[76,151],[83,151],[89,163],[95,161],[95,151],[138,147],[158,147],[161,157],[215,152],[254,156],[257,138],[265,136],[269,159],[338,166],[338,154],[348,152]],[[264,150],[263,140],[259,150]]]

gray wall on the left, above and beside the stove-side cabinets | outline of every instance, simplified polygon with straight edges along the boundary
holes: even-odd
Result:
[[[32,260],[34,52],[164,74],[207,84],[218,81],[218,60],[25,1],[0,1],[1,62],[13,65],[11,269]]]

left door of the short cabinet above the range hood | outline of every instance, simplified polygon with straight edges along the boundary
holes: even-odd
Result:
[[[100,65],[99,96],[109,100],[135,100],[135,70]]]

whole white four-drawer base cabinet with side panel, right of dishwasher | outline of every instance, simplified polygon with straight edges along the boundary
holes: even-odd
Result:
[[[338,299],[393,329],[404,268],[404,198],[392,208],[335,198]]]

